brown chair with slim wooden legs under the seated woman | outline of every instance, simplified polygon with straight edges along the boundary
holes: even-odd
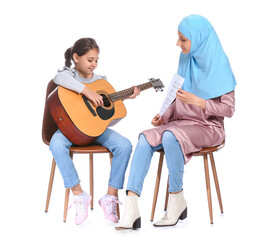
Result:
[[[221,148],[223,148],[224,145],[225,145],[225,141],[219,146],[203,148],[199,152],[193,153],[193,156],[203,156],[204,170],[205,170],[205,181],[206,181],[206,192],[207,192],[207,200],[208,200],[208,208],[209,208],[209,216],[210,216],[210,223],[211,224],[213,223],[213,215],[212,215],[212,200],[211,200],[211,189],[210,189],[208,157],[207,156],[209,155],[209,157],[210,157],[210,162],[211,162],[211,167],[212,167],[216,192],[217,192],[217,196],[218,196],[218,200],[219,200],[220,210],[221,210],[221,213],[223,213],[223,204],[222,204],[221,192],[220,192],[220,187],[219,187],[219,182],[218,182],[218,177],[217,177],[217,172],[216,172],[213,153],[220,150]],[[150,218],[151,221],[153,221],[153,219],[154,219],[155,208],[156,208],[157,197],[158,197],[158,191],[159,191],[159,185],[160,185],[160,180],[161,180],[161,172],[162,172],[162,167],[163,167],[163,160],[164,160],[164,155],[165,155],[163,149],[159,149],[159,150],[157,150],[157,152],[160,153],[160,158],[159,158],[158,171],[157,171],[157,177],[156,177],[156,183],[155,183],[155,190],[154,190],[154,195],[153,195],[153,204],[152,204],[152,211],[151,211],[151,218]],[[169,179],[168,179],[168,182],[169,182]],[[169,184],[167,183],[165,208],[164,208],[165,211],[167,210],[168,198],[169,198],[168,188],[169,188]]]

